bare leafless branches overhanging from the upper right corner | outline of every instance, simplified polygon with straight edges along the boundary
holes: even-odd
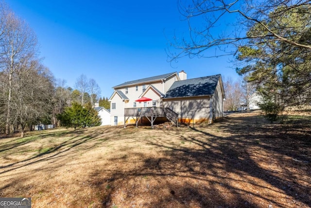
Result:
[[[256,44],[256,38],[311,50],[310,41],[301,41],[310,31],[310,0],[178,0],[178,7],[188,21],[189,36],[174,37],[171,45],[178,51],[169,53],[171,61],[235,54],[242,45]],[[278,20],[289,15],[297,16],[300,24],[289,26],[288,21]],[[278,24],[272,26],[274,20]],[[258,33],[250,35],[254,25]],[[215,54],[207,52],[211,48]]]

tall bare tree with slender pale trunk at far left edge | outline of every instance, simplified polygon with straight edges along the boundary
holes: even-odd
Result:
[[[1,8],[6,7],[3,2]],[[5,132],[10,133],[11,102],[14,77],[22,66],[35,57],[37,52],[36,36],[26,22],[17,18],[10,10],[0,9],[0,70],[7,79]]]

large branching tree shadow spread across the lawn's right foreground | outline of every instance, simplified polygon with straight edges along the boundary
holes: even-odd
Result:
[[[292,160],[310,161],[310,150],[301,155],[297,149],[310,147],[310,137],[301,138],[293,129],[287,131],[283,139],[283,130],[276,129],[279,126],[258,120],[250,122],[256,119],[258,117],[246,121],[239,117],[225,119],[217,126],[225,136],[209,132],[214,125],[192,129],[190,131],[196,133],[189,135],[189,130],[155,130],[172,138],[179,136],[181,143],[172,144],[160,137],[145,138],[140,142],[159,149],[163,155],[142,154],[142,165],[106,172],[107,177],[113,175],[110,181],[103,177],[103,172],[94,172],[91,178],[97,181],[97,189],[102,189],[103,184],[112,187],[104,194],[102,207],[111,207],[114,203],[117,206],[118,202],[146,208],[311,206],[310,166]],[[293,142],[297,142],[296,147],[290,146]],[[260,152],[266,154],[266,165],[261,163]],[[119,158],[112,162],[126,166],[130,161]],[[152,178],[152,188],[142,181],[144,177]],[[131,182],[133,180],[136,182]],[[119,201],[117,194],[123,194]]]

